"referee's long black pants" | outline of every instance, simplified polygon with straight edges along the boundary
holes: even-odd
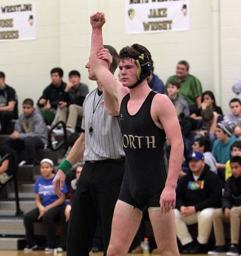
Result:
[[[123,160],[85,162],[72,201],[67,256],[89,255],[98,218],[106,255],[114,207],[124,172]]]

